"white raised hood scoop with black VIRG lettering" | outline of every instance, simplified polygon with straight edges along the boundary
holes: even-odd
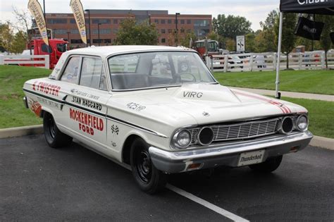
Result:
[[[241,103],[240,99],[228,87],[212,84],[183,85],[173,97],[190,101],[216,101],[228,103]]]

